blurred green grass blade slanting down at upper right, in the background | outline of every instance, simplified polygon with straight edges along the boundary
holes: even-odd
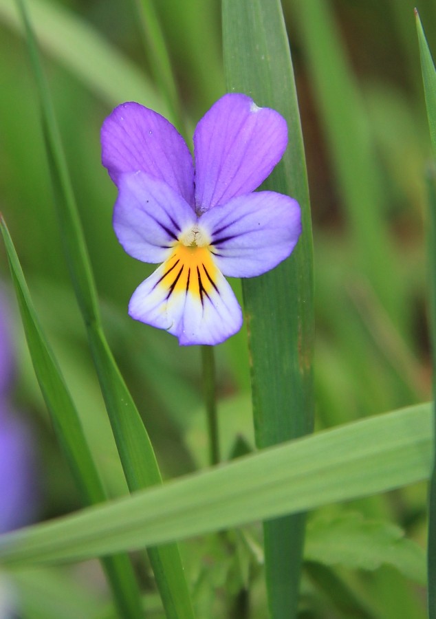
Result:
[[[331,2],[294,2],[292,8],[359,268],[404,336],[409,304],[384,220],[380,164]]]

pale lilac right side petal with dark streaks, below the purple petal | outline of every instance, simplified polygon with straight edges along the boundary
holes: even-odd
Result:
[[[301,234],[298,202],[273,191],[236,197],[200,218],[224,275],[254,277],[287,258]]]

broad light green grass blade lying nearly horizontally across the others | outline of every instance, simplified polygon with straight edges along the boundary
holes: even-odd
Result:
[[[0,561],[74,561],[428,479],[431,404],[369,417],[0,537]]]

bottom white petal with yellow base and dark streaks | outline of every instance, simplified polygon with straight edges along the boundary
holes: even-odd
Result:
[[[166,329],[177,336],[182,346],[193,344],[219,344],[235,334],[242,325],[242,312],[235,295],[224,276],[215,268],[209,268],[213,284],[202,272],[204,289],[198,294],[200,277],[196,272],[186,278],[186,265],[182,273],[181,263],[171,270],[171,281],[182,282],[175,289],[162,283],[168,272],[168,261],[161,265],[133,293],[129,314],[159,329]],[[189,284],[191,282],[191,285]],[[196,290],[193,290],[195,283]],[[170,292],[171,288],[171,292]]]

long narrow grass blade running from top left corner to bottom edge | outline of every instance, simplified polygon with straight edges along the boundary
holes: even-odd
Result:
[[[102,332],[96,287],[61,138],[58,134],[50,92],[45,83],[34,36],[21,1],[19,1],[19,7],[25,23],[30,58],[41,99],[45,144],[65,257],[87,328],[91,354],[96,365],[124,475],[129,489],[138,490],[160,484],[162,478],[149,435],[146,433],[138,409],[118,371]],[[166,547],[150,548],[148,552],[168,616],[183,619],[193,616],[188,585],[177,545],[173,543]]]

